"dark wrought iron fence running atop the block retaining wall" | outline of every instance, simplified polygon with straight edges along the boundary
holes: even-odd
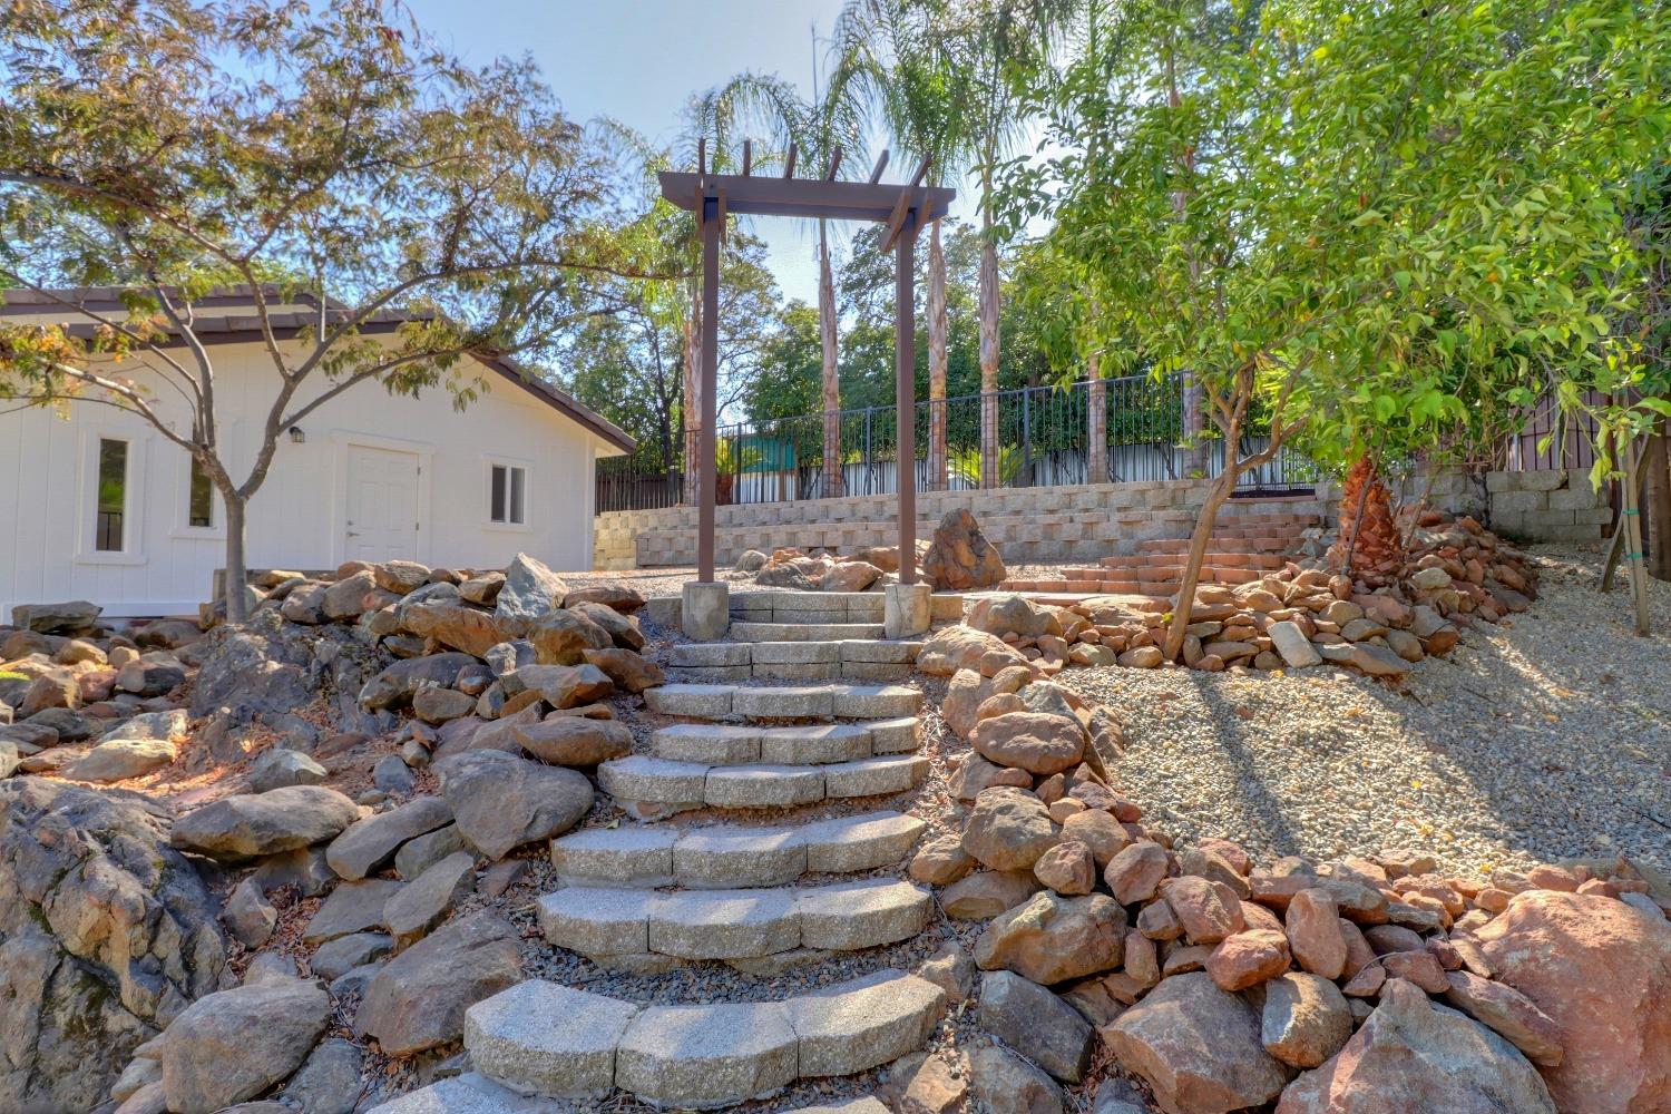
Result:
[[[1223,469],[1222,439],[1195,449],[1181,444],[1183,387],[1176,377],[1130,376],[921,401],[914,418],[919,491],[1211,478]],[[984,449],[983,426],[994,431]],[[695,439],[695,433],[687,434],[685,459],[697,458]],[[897,491],[892,406],[732,423],[715,431],[715,444],[720,504]],[[1243,438],[1242,454],[1263,444],[1263,431],[1255,429]],[[1282,449],[1238,486],[1292,489],[1317,478],[1310,461]],[[695,501],[693,476],[685,469],[633,458],[598,461],[597,483],[598,511]]]

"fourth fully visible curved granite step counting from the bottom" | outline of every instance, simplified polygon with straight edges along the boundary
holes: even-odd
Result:
[[[618,803],[650,805],[640,808],[640,815],[665,817],[690,808],[792,808],[902,793],[919,785],[927,772],[929,760],[922,755],[827,765],[707,765],[630,755],[602,763],[598,785]]]

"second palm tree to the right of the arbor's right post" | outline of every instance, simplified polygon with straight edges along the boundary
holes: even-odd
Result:
[[[1016,70],[1051,63],[1058,33],[1079,0],[964,0],[949,22],[949,47],[968,80],[962,119],[981,182],[981,449],[983,486],[998,486],[998,164],[1021,139],[1026,115]]]

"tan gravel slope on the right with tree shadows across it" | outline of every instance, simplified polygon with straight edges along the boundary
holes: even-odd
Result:
[[[1594,551],[1537,546],[1542,598],[1404,691],[1345,671],[1069,670],[1126,723],[1128,795],[1257,855],[1414,847],[1455,870],[1569,857],[1671,872],[1671,585],[1649,638]]]

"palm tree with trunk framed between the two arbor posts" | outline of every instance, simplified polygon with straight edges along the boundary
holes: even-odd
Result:
[[[755,162],[767,165],[795,149],[797,165],[810,174],[837,177],[862,165],[864,122],[854,100],[854,72],[836,65],[812,100],[802,100],[794,85],[777,75],[739,73],[697,100],[695,119],[710,137],[709,149],[727,152],[735,165],[742,134],[764,140]],[[852,159],[847,159],[847,157]],[[719,157],[719,154],[715,154]],[[715,170],[722,167],[714,164]],[[841,494],[841,379],[837,371],[836,277],[830,262],[829,222],[819,220],[819,341],[824,356],[824,494]]]

